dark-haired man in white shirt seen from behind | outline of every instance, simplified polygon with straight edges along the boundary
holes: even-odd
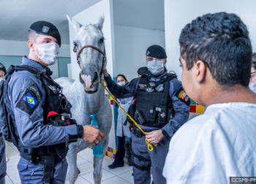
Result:
[[[252,45],[235,14],[203,15],[179,38],[182,85],[207,107],[170,141],[163,175],[173,184],[225,184],[256,176],[256,95],[249,90]]]

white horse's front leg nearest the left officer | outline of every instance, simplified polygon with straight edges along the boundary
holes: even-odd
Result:
[[[77,158],[78,158],[78,150],[77,146],[72,143],[69,145],[69,152],[67,153],[67,160],[69,161],[69,183],[74,184],[75,180],[78,179],[78,164],[77,164]]]

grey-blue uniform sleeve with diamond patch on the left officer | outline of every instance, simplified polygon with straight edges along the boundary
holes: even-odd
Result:
[[[37,91],[31,91],[31,86]],[[69,141],[70,137],[78,137],[78,128],[75,125],[56,127],[43,124],[42,94],[39,93],[39,87],[38,81],[28,77],[26,80],[20,77],[9,86],[15,124],[23,145],[56,145]]]

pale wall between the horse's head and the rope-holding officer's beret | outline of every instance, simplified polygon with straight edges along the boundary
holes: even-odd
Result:
[[[124,74],[129,81],[138,77],[138,69],[146,66],[146,50],[151,45],[165,48],[165,31],[115,25],[116,75]]]

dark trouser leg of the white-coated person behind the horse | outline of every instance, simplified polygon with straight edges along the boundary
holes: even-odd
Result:
[[[124,149],[124,142],[125,142],[125,136],[118,137],[118,148],[116,152],[116,158],[113,164],[116,164],[117,166],[124,166],[124,156],[125,156],[125,149]]]

